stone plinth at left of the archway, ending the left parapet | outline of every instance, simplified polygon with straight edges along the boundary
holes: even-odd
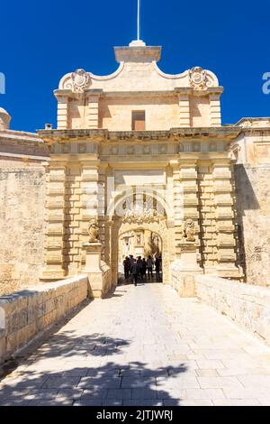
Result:
[[[89,296],[102,298],[111,288],[110,268],[101,260],[102,244],[85,243],[83,247],[86,251],[84,272],[87,273],[90,284]]]

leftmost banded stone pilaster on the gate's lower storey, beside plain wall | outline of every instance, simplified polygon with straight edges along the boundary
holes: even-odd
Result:
[[[65,267],[65,195],[67,164],[49,165],[47,175],[45,264],[41,280],[60,280],[66,276]]]

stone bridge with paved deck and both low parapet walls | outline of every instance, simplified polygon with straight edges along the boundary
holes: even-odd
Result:
[[[1,405],[270,404],[267,289],[200,275],[193,298],[88,292],[83,275],[1,298]]]

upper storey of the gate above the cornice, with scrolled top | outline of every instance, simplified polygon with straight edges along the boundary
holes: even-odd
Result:
[[[109,131],[219,126],[218,78],[200,66],[171,75],[158,68],[160,46],[132,41],[115,47],[119,67],[109,75],[76,69],[61,78],[58,128]]]

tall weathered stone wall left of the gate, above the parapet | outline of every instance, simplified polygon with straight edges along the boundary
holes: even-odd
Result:
[[[39,281],[44,213],[44,166],[0,157],[0,294]]]

